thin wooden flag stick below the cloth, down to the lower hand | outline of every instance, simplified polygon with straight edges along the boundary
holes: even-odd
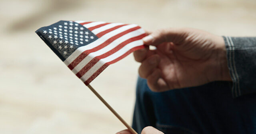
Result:
[[[100,96],[100,94],[98,94],[98,92],[96,92],[96,90],[94,90],[94,88],[92,88],[92,86],[90,84],[87,85],[88,88],[90,88],[90,90],[100,99],[101,102],[104,103],[105,106],[108,107],[108,109],[124,124],[124,126],[126,126],[126,128],[128,128],[128,130],[130,132],[132,132],[132,134],[138,134],[130,125],[128,125],[124,119]]]

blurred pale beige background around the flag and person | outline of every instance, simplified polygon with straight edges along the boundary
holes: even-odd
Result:
[[[255,0],[0,0],[0,134],[115,134],[120,121],[34,32],[59,20],[192,27],[256,36]],[[132,122],[132,54],[91,85]]]

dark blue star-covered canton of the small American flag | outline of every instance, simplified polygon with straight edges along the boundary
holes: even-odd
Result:
[[[80,46],[94,42],[98,37],[84,26],[73,21],[59,21],[42,27],[36,33],[64,61]]]

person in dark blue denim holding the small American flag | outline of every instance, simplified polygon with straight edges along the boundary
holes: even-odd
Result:
[[[147,34],[144,44],[156,49],[134,52],[138,133],[256,134],[255,37],[192,28]]]

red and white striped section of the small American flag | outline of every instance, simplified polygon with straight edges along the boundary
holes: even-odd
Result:
[[[76,49],[64,63],[88,85],[108,65],[144,48],[144,30],[136,24],[76,21],[98,36],[94,42]]]

